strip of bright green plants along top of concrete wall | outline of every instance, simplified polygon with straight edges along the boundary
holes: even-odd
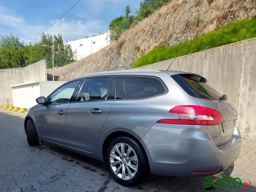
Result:
[[[216,31],[195,37],[190,41],[172,46],[158,46],[136,60],[132,68],[204,51],[221,45],[236,43],[253,37],[256,37],[256,17],[251,20],[237,20],[230,25],[222,26]]]

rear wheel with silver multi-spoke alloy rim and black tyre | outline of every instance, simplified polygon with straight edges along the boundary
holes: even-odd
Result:
[[[141,147],[135,140],[126,136],[116,138],[110,143],[107,152],[107,163],[112,177],[124,186],[139,184],[149,173],[146,157]]]

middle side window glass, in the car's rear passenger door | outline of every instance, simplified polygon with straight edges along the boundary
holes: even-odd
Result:
[[[76,101],[111,100],[110,77],[90,78],[84,84],[77,96]]]

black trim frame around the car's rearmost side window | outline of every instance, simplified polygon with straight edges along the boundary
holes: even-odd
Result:
[[[145,97],[140,99],[116,99],[116,77],[143,77],[143,78],[151,78],[151,79],[157,79],[163,86],[164,92],[158,95],[154,95],[151,97]],[[167,86],[164,84],[163,80],[157,76],[148,76],[148,75],[115,75],[115,101],[131,101],[131,100],[145,100],[145,99],[151,99],[154,97],[159,97],[162,95],[165,95],[169,92]]]

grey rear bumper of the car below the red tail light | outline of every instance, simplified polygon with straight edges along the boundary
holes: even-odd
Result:
[[[207,126],[155,124],[141,139],[155,175],[197,177],[226,169],[240,154],[241,135],[235,128],[233,139],[217,147]],[[213,173],[192,173],[214,170]]]

